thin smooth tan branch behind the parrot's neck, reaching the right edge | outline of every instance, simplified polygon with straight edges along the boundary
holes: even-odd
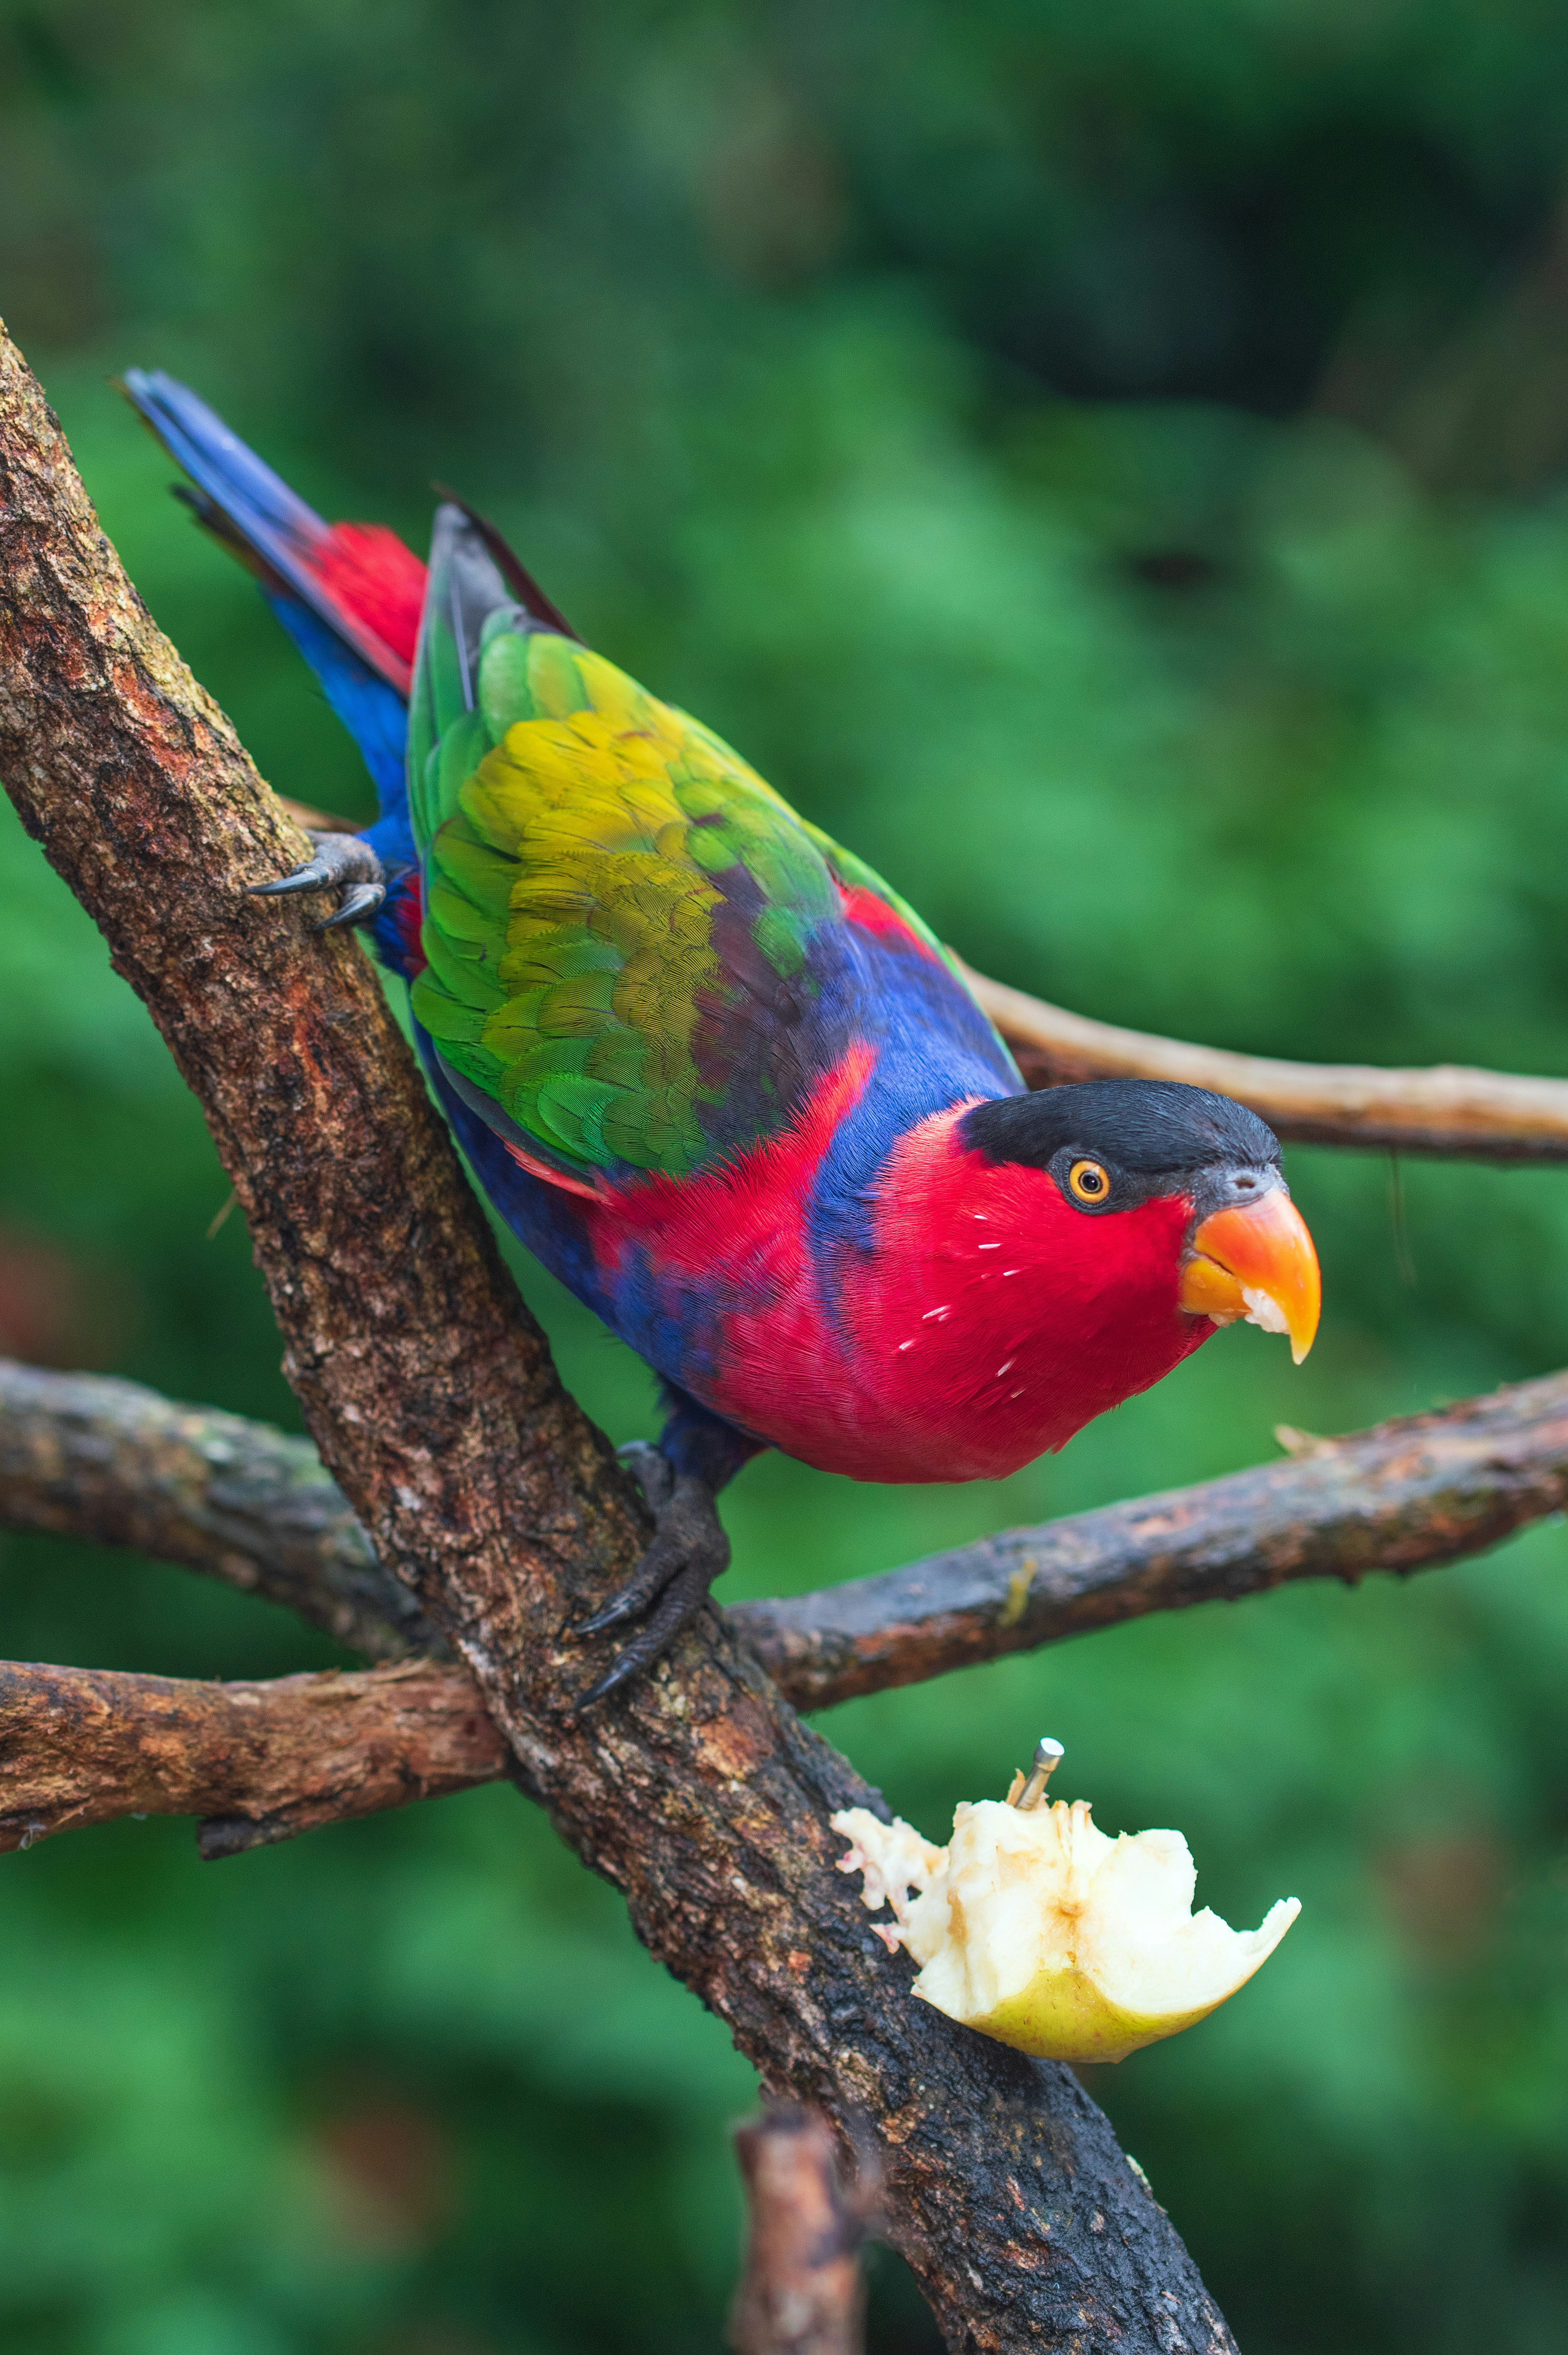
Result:
[[[1283,1062],[1231,1055],[1090,1022],[1043,999],[970,973],[975,996],[1017,1055],[1031,1088],[1069,1079],[1182,1079],[1217,1088],[1300,1145],[1366,1145],[1474,1161],[1566,1161],[1568,1081],[1469,1072],[1462,1064],[1396,1072],[1363,1062]]]

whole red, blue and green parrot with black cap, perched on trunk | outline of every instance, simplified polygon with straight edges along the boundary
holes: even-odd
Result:
[[[405,977],[490,1201],[664,1385],[657,1533],[584,1634],[638,1674],[730,1559],[760,1448],[1001,1479],[1220,1324],[1318,1321],[1274,1133],[1205,1088],[1029,1093],[899,895],[702,721],[591,652],[497,532],[431,563],[327,525],[181,384],[129,398],[358,739],[381,817],[261,890],[337,890]]]

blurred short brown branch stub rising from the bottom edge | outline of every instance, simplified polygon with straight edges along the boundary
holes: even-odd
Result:
[[[735,2129],[746,2181],[746,2270],[730,2310],[735,2355],[859,2355],[862,2188],[838,2183],[826,2120],[798,2103]]]

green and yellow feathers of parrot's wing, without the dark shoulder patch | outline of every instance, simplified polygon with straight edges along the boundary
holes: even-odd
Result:
[[[716,878],[751,878],[751,942],[789,977],[838,911],[824,850],[614,664],[509,603],[476,659],[457,629],[426,615],[410,725],[428,958],[414,1015],[549,1159],[685,1175],[723,1126],[699,1121],[723,1095],[699,1029],[739,994],[713,942]]]

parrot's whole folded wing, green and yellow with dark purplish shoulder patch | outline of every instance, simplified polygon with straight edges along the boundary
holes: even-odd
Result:
[[[410,805],[414,1015],[469,1102],[567,1180],[687,1178],[789,1123],[864,1010],[845,888],[942,954],[711,730],[513,603],[457,509]]]

